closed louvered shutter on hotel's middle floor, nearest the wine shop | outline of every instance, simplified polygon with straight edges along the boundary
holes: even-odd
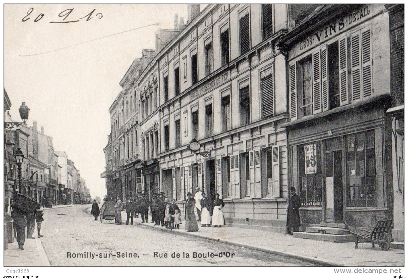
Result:
[[[273,92],[272,68],[261,72],[262,118],[275,113],[275,96]]]

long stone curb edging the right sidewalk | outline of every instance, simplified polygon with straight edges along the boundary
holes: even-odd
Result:
[[[293,255],[290,253],[284,253],[284,252],[279,252],[279,251],[273,251],[273,250],[268,250],[268,249],[264,249],[264,248],[259,248],[259,247],[255,247],[255,246],[251,246],[251,245],[243,245],[243,244],[238,244],[235,242],[230,242],[227,240],[220,240],[220,239],[216,239],[216,238],[211,238],[208,236],[204,236],[204,235],[195,235],[195,234],[189,234],[183,231],[178,231],[178,230],[169,230],[169,229],[163,229],[162,227],[152,227],[150,225],[145,225],[142,223],[136,223],[136,225],[141,226],[141,227],[146,227],[149,229],[153,229],[153,230],[161,230],[164,232],[168,232],[168,233],[177,233],[180,235],[186,235],[186,236],[191,236],[191,237],[195,237],[195,238],[202,238],[205,240],[210,240],[210,241],[214,241],[214,242],[220,242],[223,244],[228,244],[228,245],[232,245],[232,246],[237,246],[237,247],[244,247],[244,248],[248,248],[251,250],[256,250],[256,251],[260,251],[260,252],[264,252],[264,253],[268,253],[268,254],[273,254],[273,255],[278,255],[278,256],[283,256],[283,257],[289,257],[289,258],[293,258],[293,259],[300,259],[302,261],[305,262],[310,262],[312,264],[318,264],[321,266],[326,266],[326,267],[339,267],[339,266],[344,266],[342,264],[337,264],[337,263],[333,263],[333,262],[326,262],[326,261],[322,261],[319,259],[313,259],[313,258],[308,258],[308,257],[302,257],[302,256],[298,256],[298,255]]]

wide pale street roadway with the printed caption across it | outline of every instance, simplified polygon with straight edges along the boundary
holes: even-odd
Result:
[[[96,222],[88,208],[75,205],[45,212],[41,240],[51,266],[312,266],[297,259],[140,226]],[[155,252],[158,257],[154,257]],[[173,252],[180,253],[180,258],[172,258]],[[183,252],[190,257],[183,258]],[[229,252],[233,257],[193,258],[194,252]],[[77,257],[78,253],[82,256]],[[129,257],[134,253],[137,257]],[[160,257],[164,253],[167,258]]]

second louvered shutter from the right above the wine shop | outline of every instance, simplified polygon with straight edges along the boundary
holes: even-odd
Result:
[[[361,100],[361,47],[360,31],[351,34],[351,96]]]

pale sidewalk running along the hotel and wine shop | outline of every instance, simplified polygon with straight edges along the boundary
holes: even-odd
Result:
[[[126,221],[126,217],[122,218],[122,221]],[[404,250],[390,248],[388,251],[382,251],[377,245],[372,248],[370,243],[359,243],[359,248],[355,249],[354,242],[332,243],[308,240],[293,238],[282,233],[237,227],[200,227],[200,223],[199,231],[188,233],[184,224],[180,225],[178,230],[169,230],[165,227],[153,226],[150,220],[148,223],[141,223],[140,218],[135,219],[134,225],[205,238],[324,266],[404,266]]]

